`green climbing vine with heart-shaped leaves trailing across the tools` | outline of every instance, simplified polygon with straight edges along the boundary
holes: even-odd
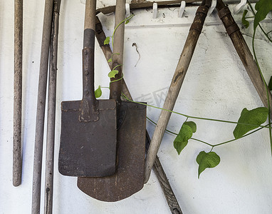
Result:
[[[263,79],[263,83],[265,83],[265,85],[266,85],[266,81],[263,78],[263,73],[261,71],[261,68],[258,63],[258,58],[256,56],[254,39],[255,39],[256,29],[258,29],[258,27],[259,27],[261,29],[261,31],[263,32],[263,35],[266,36],[266,38],[268,39],[268,41],[272,42],[272,40],[269,36],[272,31],[266,32],[263,30],[263,28],[260,25],[260,22],[266,18],[268,12],[272,11],[272,1],[271,0],[258,1],[255,5],[256,12],[254,11],[254,9],[251,6],[249,1],[248,1],[248,4],[249,4],[249,8],[251,9],[253,16],[247,17],[246,15],[248,14],[248,10],[245,10],[243,17],[242,17],[242,23],[244,24],[244,26],[246,28],[248,28],[250,26],[248,19],[250,19],[250,18],[254,19],[254,21],[253,21],[253,38],[252,38],[253,56],[254,56],[257,66],[258,66],[258,71],[261,74],[261,78]],[[127,24],[130,21],[130,19],[132,19],[132,16],[127,17],[127,19],[124,19],[120,24],[122,24],[123,22],[125,22],[125,24]],[[113,36],[115,34],[117,27],[120,26],[120,24],[118,24],[115,27],[115,29],[113,31],[113,35],[108,36],[105,39],[104,44],[109,44],[110,39],[112,39],[112,43],[113,43]],[[108,60],[108,62],[111,62],[113,60],[113,55],[115,55],[115,54],[118,54],[118,53],[113,53],[112,56],[110,57],[110,59]],[[122,65],[117,65],[117,66],[122,66]],[[115,68],[117,68],[117,66],[115,66]],[[118,73],[118,71],[115,68],[113,68],[112,71],[110,71],[110,73],[108,73],[108,76],[110,78],[115,77],[115,75]],[[117,81],[119,81],[119,80],[117,80]],[[271,76],[271,83],[269,83],[268,85],[271,86],[271,88],[272,88],[272,76]],[[103,88],[109,88],[109,87],[103,87]],[[256,133],[256,131],[260,131],[263,128],[268,128],[269,136],[270,136],[270,143],[271,143],[271,153],[272,153],[272,135],[271,135],[271,123],[270,123],[271,114],[268,111],[268,109],[270,109],[270,102],[269,102],[269,96],[268,96],[269,88],[267,86],[266,86],[266,93],[267,93],[267,99],[268,99],[268,108],[258,107],[258,108],[253,108],[251,110],[244,108],[241,111],[241,116],[239,117],[237,122],[236,121],[218,120],[218,119],[214,119],[214,118],[202,118],[202,117],[197,117],[197,116],[188,116],[184,113],[170,111],[170,112],[175,113],[179,116],[184,116],[187,118],[186,121],[182,124],[182,126],[179,130],[179,133],[174,133],[172,131],[166,130],[167,132],[176,135],[176,138],[174,138],[173,146],[176,149],[178,155],[180,155],[182,153],[184,148],[187,146],[188,142],[191,140],[199,141],[200,143],[204,143],[208,146],[211,146],[211,150],[209,152],[206,153],[205,151],[201,151],[196,158],[196,161],[199,164],[198,177],[206,168],[214,168],[214,167],[216,167],[216,165],[219,165],[220,157],[218,154],[216,154],[213,151],[214,147],[221,146],[226,143],[231,143],[231,142],[236,141],[240,138],[244,138],[245,136],[249,136],[252,133]],[[98,89],[95,91],[95,96],[100,97],[101,95],[102,95],[102,91],[101,91],[101,87],[99,86]],[[135,101],[130,100],[124,94],[122,94],[122,97],[127,101],[134,102],[134,103],[140,103],[140,102],[135,102]],[[156,106],[151,106],[151,105],[148,105],[145,103],[140,103],[140,104],[145,105],[145,106],[150,106],[152,108],[158,108],[163,111],[169,111],[167,109],[159,108]],[[150,118],[148,118],[148,117],[147,117],[147,119],[150,120]],[[206,121],[217,121],[217,122],[223,122],[223,123],[235,123],[236,127],[234,128],[234,131],[233,131],[234,138],[229,141],[224,141],[222,143],[217,143],[214,145],[212,145],[211,143],[207,143],[205,141],[199,140],[197,138],[193,138],[194,133],[197,132],[197,123],[192,121],[192,119],[200,119],[200,120],[206,120]],[[266,125],[263,125],[263,123],[265,123],[267,119],[268,119],[269,123]],[[152,121],[152,120],[150,120],[150,121],[156,125],[156,123],[154,121]]]

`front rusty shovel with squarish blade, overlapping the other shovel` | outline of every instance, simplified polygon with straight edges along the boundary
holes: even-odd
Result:
[[[115,173],[116,101],[94,92],[95,0],[85,5],[83,99],[61,103],[58,170],[63,175],[101,177]]]

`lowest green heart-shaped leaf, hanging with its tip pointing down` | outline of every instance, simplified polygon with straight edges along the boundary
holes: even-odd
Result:
[[[197,163],[199,164],[199,175],[206,168],[214,168],[220,163],[220,157],[215,152],[205,153],[200,152],[197,156]]]

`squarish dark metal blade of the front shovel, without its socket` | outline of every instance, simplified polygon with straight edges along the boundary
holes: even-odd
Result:
[[[116,103],[98,100],[98,121],[79,121],[81,101],[61,103],[61,146],[58,170],[68,176],[106,176],[115,173]]]

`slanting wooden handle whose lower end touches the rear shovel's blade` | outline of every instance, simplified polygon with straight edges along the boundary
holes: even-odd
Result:
[[[197,45],[197,40],[201,34],[204,20],[206,14],[208,13],[209,6],[211,5],[211,0],[202,1],[202,5],[197,9],[196,16],[194,17],[194,22],[189,30],[187,40],[185,41],[182,54],[179,58],[176,71],[172,78],[171,85],[169,87],[167,97],[164,101],[164,109],[169,111],[161,111],[159,116],[159,121],[157,121],[157,126],[155,128],[152,141],[150,143],[150,148],[147,152],[147,158],[145,161],[145,183],[147,183],[150,178],[151,169],[155,163],[157,152],[159,151],[159,145],[162,142],[162,137],[164,136],[164,131],[167,128],[171,112],[174,108],[174,103],[177,101],[177,96],[179,94],[180,88],[184,81],[185,74],[189,67],[189,63],[192,59],[194,49]]]

